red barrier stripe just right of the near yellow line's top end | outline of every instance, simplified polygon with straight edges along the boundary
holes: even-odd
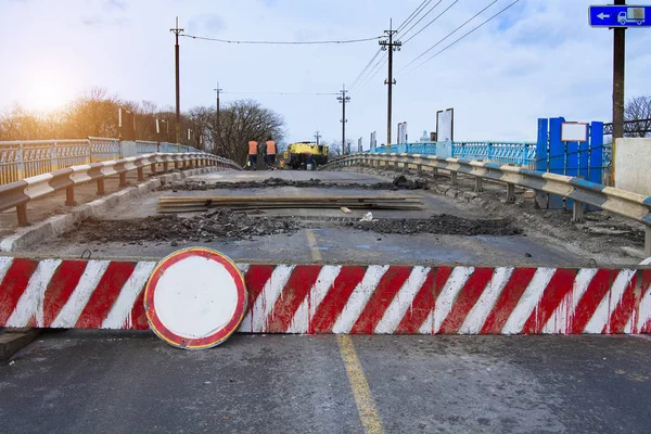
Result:
[[[388,267],[388,270],[382,276],[380,282],[378,282],[378,286],[368,303],[366,304],[363,310],[357,318],[355,326],[350,329],[350,333],[353,334],[372,334],[375,330],[375,326],[384,316],[384,312],[391,305],[391,302],[394,299],[403,284],[409,279],[409,275],[413,267],[409,266],[392,266]]]

